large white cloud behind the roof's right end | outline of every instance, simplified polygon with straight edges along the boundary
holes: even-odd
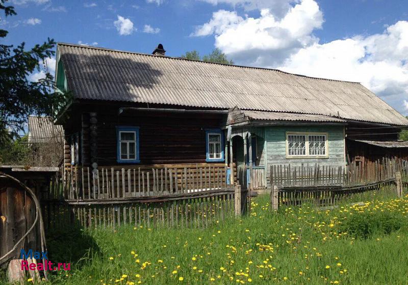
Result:
[[[408,21],[382,34],[314,43],[278,67],[316,77],[361,82],[401,113],[408,114]]]

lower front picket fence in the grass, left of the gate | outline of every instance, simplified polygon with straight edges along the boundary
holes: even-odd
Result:
[[[207,227],[250,211],[248,190],[223,189],[159,196],[94,200],[53,200],[43,203],[47,228],[134,226]]]

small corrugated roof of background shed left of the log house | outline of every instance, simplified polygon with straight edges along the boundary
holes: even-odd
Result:
[[[29,142],[62,142],[64,130],[62,125],[55,125],[50,117],[29,117]]]

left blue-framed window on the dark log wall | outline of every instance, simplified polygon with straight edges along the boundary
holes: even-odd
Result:
[[[139,127],[117,126],[117,162],[139,163]]]

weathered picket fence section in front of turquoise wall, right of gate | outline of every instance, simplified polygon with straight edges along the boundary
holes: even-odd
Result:
[[[277,165],[270,168],[271,208],[303,203],[331,206],[355,193],[396,186],[397,196],[408,186],[408,164],[398,159],[383,159],[370,164],[343,167]],[[408,182],[408,179],[405,180]]]

